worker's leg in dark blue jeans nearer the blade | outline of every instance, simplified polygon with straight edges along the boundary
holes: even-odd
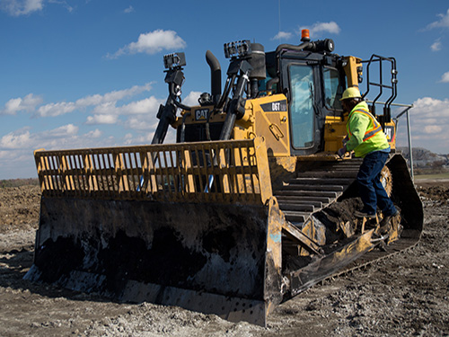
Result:
[[[365,156],[357,173],[358,192],[364,203],[363,211],[375,214],[377,210],[377,195],[374,189],[374,180],[383,169],[387,153],[374,151]],[[387,196],[388,197],[388,196]]]

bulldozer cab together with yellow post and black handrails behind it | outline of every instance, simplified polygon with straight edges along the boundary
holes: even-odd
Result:
[[[318,45],[325,47],[328,44]],[[331,54],[330,49],[315,48],[311,51],[288,47],[267,53],[268,79],[260,81],[260,88],[262,93],[270,93],[266,90],[267,83],[276,82],[271,93],[286,94],[291,155],[337,151],[339,147],[330,144],[326,146],[327,141],[332,141],[325,137],[326,131],[332,125],[332,137],[339,137],[341,140],[340,137],[345,136],[346,129],[341,127],[341,122],[346,121],[348,112],[345,114],[339,100],[347,87],[361,85],[365,87],[365,93],[362,92],[365,99],[368,99],[368,93],[375,95],[372,101],[368,101],[370,110],[380,120],[394,147],[395,126],[391,120],[390,108],[396,97],[397,71],[394,58],[373,55],[368,60],[362,60],[339,57]],[[365,83],[362,76],[364,64]],[[383,74],[385,68],[390,72]],[[375,109],[379,105],[379,98],[385,96],[386,102],[381,107],[383,109]]]

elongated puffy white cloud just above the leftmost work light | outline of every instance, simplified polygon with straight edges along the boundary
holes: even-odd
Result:
[[[131,42],[114,54],[107,55],[107,58],[119,58],[124,54],[155,54],[163,49],[185,49],[186,46],[186,42],[178,36],[176,31],[156,30],[140,34],[136,42]]]

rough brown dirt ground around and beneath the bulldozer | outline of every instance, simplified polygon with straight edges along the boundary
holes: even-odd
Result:
[[[178,307],[119,304],[22,279],[40,192],[0,189],[1,336],[449,336],[449,182],[418,182],[419,244],[277,306],[267,328]]]

